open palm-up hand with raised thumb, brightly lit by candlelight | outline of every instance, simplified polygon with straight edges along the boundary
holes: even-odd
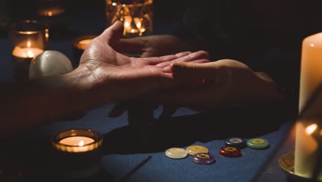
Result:
[[[86,78],[83,85],[95,93],[92,95],[95,105],[132,99],[153,90],[171,87],[175,84],[170,73],[173,61],[208,61],[208,53],[204,51],[181,52],[164,57],[126,57],[112,48],[121,37],[122,23],[116,21],[89,43],[76,69],[81,77]]]

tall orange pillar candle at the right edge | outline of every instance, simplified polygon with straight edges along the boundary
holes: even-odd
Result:
[[[299,92],[299,111],[301,112],[312,97],[313,92],[322,83],[322,33],[313,34],[303,40],[301,55],[301,77]],[[321,124],[321,123],[320,123]],[[312,178],[312,172],[319,154],[319,141],[312,133],[321,128],[319,123],[310,121],[297,121],[295,138],[294,172],[299,176]],[[322,171],[319,179],[322,180]]]

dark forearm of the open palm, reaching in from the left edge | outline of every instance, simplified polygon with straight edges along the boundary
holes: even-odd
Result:
[[[0,135],[8,136],[93,107],[82,72],[1,85]]]

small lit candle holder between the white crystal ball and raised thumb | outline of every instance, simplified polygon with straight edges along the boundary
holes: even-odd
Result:
[[[79,65],[79,61],[81,59],[81,56],[84,52],[84,50],[87,48],[87,45],[97,37],[96,34],[89,34],[89,35],[83,35],[81,37],[76,37],[72,40],[73,44],[73,51],[74,51],[74,61],[73,61],[73,67],[76,68]]]

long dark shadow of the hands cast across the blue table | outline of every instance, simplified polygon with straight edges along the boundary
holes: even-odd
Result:
[[[281,124],[294,118],[294,110],[286,103],[272,102],[162,119],[151,118],[149,113],[148,117],[140,115],[144,115],[142,111],[135,114],[130,108],[129,125],[105,134],[105,154],[162,152],[196,141],[208,142],[231,136],[257,137],[278,130]]]

